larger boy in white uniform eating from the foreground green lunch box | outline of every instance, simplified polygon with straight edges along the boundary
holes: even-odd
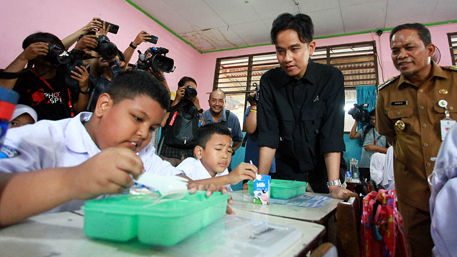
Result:
[[[52,211],[78,209],[83,201],[74,200],[122,193],[144,171],[180,174],[148,146],[169,99],[148,72],[126,71],[107,86],[93,114],[9,130],[2,148],[7,158],[0,159],[0,226],[56,206]],[[191,193],[217,190],[189,184]]]

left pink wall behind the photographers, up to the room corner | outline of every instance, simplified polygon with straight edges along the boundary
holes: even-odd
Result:
[[[167,56],[175,60],[176,70],[167,75],[172,90],[176,90],[181,77],[200,73],[195,65],[202,56],[199,52],[122,0],[1,1],[0,17],[3,18],[0,25],[0,68],[8,66],[22,52],[22,41],[27,35],[43,31],[63,39],[86,25],[92,17],[101,17],[119,25],[119,32],[108,36],[121,51],[143,29],[158,36],[155,46],[169,49]],[[144,52],[151,46],[154,45],[143,43],[137,49]],[[135,52],[130,63],[137,59],[138,53]]]

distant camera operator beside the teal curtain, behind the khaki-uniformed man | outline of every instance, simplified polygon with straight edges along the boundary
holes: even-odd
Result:
[[[357,107],[357,106],[356,106]],[[354,107],[354,108],[356,108]],[[351,111],[351,110],[350,110]],[[353,113],[353,112],[351,112]],[[360,114],[361,112],[358,112],[356,114]],[[363,112],[362,112],[363,113]],[[362,119],[363,116],[361,115],[352,115],[352,118],[354,118],[355,122],[354,125],[352,126],[351,133],[349,134],[349,139],[356,139],[356,138],[362,138],[363,147],[362,149],[362,155],[360,157],[360,163],[358,164],[358,171],[360,172],[360,178],[365,178],[366,181],[370,180],[370,158],[374,153],[387,153],[387,139],[385,136],[380,135],[378,131],[376,131],[376,113],[375,110],[368,113],[368,116],[370,117],[370,120],[372,124],[364,126],[362,129],[357,131],[357,124],[358,120]]]

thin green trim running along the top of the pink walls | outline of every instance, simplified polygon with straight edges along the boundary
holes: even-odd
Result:
[[[237,49],[243,49],[243,48],[250,48],[250,47],[259,47],[259,46],[268,46],[268,45],[271,45],[270,43],[269,44],[260,44],[260,45],[253,45],[253,46],[243,46],[243,47],[234,47],[234,48],[225,48],[225,49],[219,49],[219,50],[210,50],[210,51],[200,51],[198,48],[194,47],[192,44],[190,44],[189,42],[187,42],[186,40],[184,40],[183,38],[181,38],[180,35],[176,34],[175,31],[171,30],[169,27],[165,26],[164,24],[162,24],[160,21],[156,20],[154,17],[152,17],[149,13],[147,13],[146,11],[144,11],[143,9],[141,9],[139,6],[137,6],[135,3],[132,3],[132,1],[130,0],[125,0],[125,2],[127,2],[128,4],[132,5],[133,7],[135,7],[136,9],[138,9],[140,12],[144,13],[146,16],[148,16],[149,18],[151,18],[153,21],[157,22],[157,24],[159,24],[160,26],[164,27],[165,29],[167,29],[170,33],[174,34],[178,39],[182,40],[184,43],[186,43],[187,45],[191,46],[193,49],[197,50],[199,53],[201,54],[206,54],[206,53],[213,53],[213,52],[222,52],[222,51],[228,51],[228,50],[237,50]],[[435,23],[426,23],[426,24],[423,24],[427,27],[430,27],[430,26],[436,26],[436,25],[443,25],[443,24],[451,24],[451,23],[457,23],[457,20],[451,20],[451,21],[442,21],[442,22],[435,22]],[[385,28],[385,29],[381,29],[383,32],[386,32],[386,31],[390,31],[394,28]],[[317,38],[314,38],[314,39],[328,39],[328,38],[335,38],[337,36],[343,36],[343,35],[356,35],[356,34],[365,34],[365,33],[371,33],[371,32],[376,32],[378,31],[379,29],[375,29],[375,30],[365,30],[365,31],[358,31],[358,32],[352,32],[352,33],[343,33],[343,34],[335,34],[335,35],[326,35],[326,36],[318,36]]]

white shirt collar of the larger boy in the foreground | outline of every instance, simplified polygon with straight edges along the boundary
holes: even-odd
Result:
[[[88,153],[90,157],[100,153],[99,147],[90,137],[84,127],[92,113],[82,112],[75,118],[72,118],[65,129],[65,144],[68,149],[76,153]]]

